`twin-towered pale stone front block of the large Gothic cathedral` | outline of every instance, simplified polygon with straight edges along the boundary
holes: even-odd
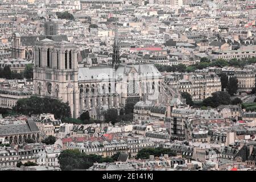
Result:
[[[35,46],[34,94],[68,102],[72,117],[79,117],[76,47],[69,42],[43,39]]]

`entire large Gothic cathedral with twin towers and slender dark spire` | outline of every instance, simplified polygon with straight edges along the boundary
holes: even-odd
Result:
[[[118,40],[112,65],[79,68],[79,51],[63,40],[43,39],[34,47],[34,94],[68,102],[72,117],[97,108],[121,108],[146,97],[158,102],[162,75],[154,64],[121,65]]]

